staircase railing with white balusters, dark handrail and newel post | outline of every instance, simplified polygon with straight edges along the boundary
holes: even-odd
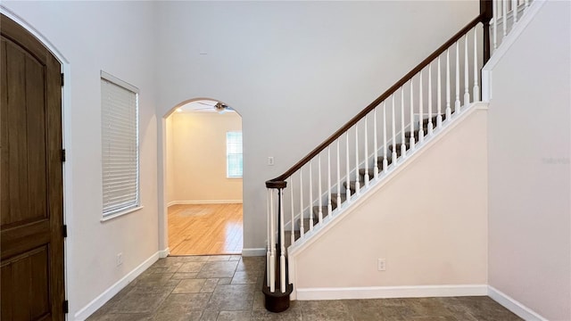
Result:
[[[492,45],[497,46],[498,17],[505,26],[509,18],[517,21],[518,8],[528,6],[510,1],[497,12],[494,4],[481,0],[480,14],[466,27],[291,169],[266,182],[266,309],[289,307],[294,291],[288,276],[290,247],[318,237],[322,226],[351,209],[372,186],[396,175],[395,169],[480,101],[480,70]]]

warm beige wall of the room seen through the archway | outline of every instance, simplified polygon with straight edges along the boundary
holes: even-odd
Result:
[[[170,202],[241,202],[242,178],[226,177],[226,133],[242,130],[236,112],[175,112],[171,141]],[[168,144],[168,143],[167,143]],[[170,166],[169,166],[170,165]],[[169,185],[169,183],[168,183]]]

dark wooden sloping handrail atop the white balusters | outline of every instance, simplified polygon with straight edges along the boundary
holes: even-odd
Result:
[[[327,138],[327,140],[325,142],[319,144],[319,146],[317,146],[313,151],[308,153],[301,161],[298,161],[292,168],[287,169],[285,171],[285,173],[280,175],[279,177],[276,177],[276,178],[273,178],[273,179],[270,179],[269,181],[267,181],[266,187],[276,188],[275,184],[277,182],[281,182],[282,184],[285,184],[285,179],[287,177],[292,176],[297,170],[301,169],[303,165],[305,165],[311,159],[313,159],[315,156],[317,156],[319,154],[319,152],[326,149],[326,147],[329,144],[332,144],[333,142],[335,142],[335,139],[342,136],[347,130],[349,130],[355,124],[357,124],[357,122],[360,119],[364,118],[370,111],[374,110],[375,107],[377,107],[379,103],[384,102],[387,98],[389,98],[391,95],[393,95],[394,92],[396,92],[399,88],[401,88],[401,86],[404,86],[411,78],[413,78],[416,74],[418,74],[418,72],[420,72],[420,70],[423,70],[430,62],[433,62],[434,59],[436,59],[438,56],[440,56],[442,53],[444,53],[448,48],[450,48],[451,45],[454,45],[454,43],[456,43],[461,37],[466,35],[469,30],[476,27],[476,25],[478,23],[485,22],[486,19],[487,19],[487,21],[490,21],[488,19],[488,16],[486,15],[486,12],[485,11],[481,12],[473,21],[470,21],[466,25],[466,27],[460,29],[448,41],[446,41],[443,45],[438,47],[438,49],[436,49],[434,51],[434,53],[430,54],[424,61],[418,63],[418,65],[415,68],[413,68],[412,70],[410,70],[410,72],[407,73],[404,77],[402,77],[401,80],[397,81],[393,86],[391,86],[389,89],[387,89],[385,91],[385,93],[383,95],[380,95],[376,100],[373,101],[373,103],[369,103],[368,106],[364,110],[360,111],[360,113],[358,113],[355,117],[353,117],[351,120],[349,120],[349,122],[347,122],[345,125],[343,125],[342,128],[339,128],[332,136],[329,136],[329,138]],[[284,187],[285,187],[285,185],[284,185]]]

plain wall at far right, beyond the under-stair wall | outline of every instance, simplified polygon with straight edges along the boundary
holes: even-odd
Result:
[[[571,3],[548,1],[493,68],[490,285],[571,320]]]

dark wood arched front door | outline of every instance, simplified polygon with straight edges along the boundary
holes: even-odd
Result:
[[[0,17],[3,321],[63,320],[61,65]]]

